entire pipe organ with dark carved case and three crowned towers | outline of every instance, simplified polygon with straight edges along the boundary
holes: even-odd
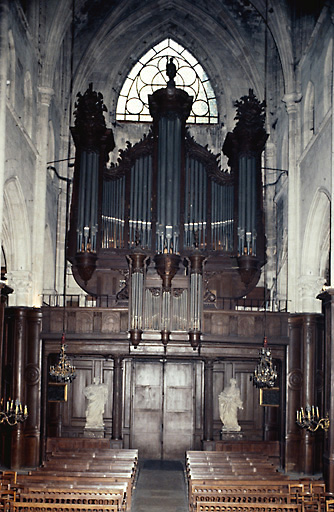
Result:
[[[87,293],[117,305],[110,275],[121,282],[129,271],[125,296],[135,347],[158,332],[165,346],[173,333],[182,333],[196,349],[203,280],[215,289],[219,307],[222,298],[249,293],[264,264],[264,104],[252,90],[236,102],[237,123],[223,145],[231,169],[223,171],[186,129],[192,97],[175,87],[175,73],[170,59],[167,87],[149,96],[152,128],[120,151],[117,164],[107,166],[113,133],[106,128],[102,95],[91,84],[78,94],[71,128],[73,275]]]

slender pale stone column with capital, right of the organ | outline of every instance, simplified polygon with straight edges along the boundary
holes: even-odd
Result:
[[[289,116],[289,195],[288,195],[288,300],[292,313],[299,311],[298,275],[300,261],[299,215],[300,215],[300,177],[297,165],[299,148],[298,113],[300,95],[286,94],[283,98]]]

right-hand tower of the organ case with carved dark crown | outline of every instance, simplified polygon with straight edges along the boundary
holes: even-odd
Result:
[[[248,286],[265,260],[261,153],[268,135],[264,129],[265,104],[258,101],[252,89],[235,106],[237,124],[227,134],[223,152],[237,181],[238,265],[241,279]]]

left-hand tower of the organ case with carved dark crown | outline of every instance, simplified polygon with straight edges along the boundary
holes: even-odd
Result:
[[[71,128],[76,156],[68,256],[75,262],[80,279],[87,283],[96,268],[102,172],[115,143],[112,131],[106,128],[102,94],[89,84],[77,98],[75,126]]]

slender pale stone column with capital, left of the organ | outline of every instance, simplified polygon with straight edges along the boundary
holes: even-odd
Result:
[[[34,190],[34,220],[32,245],[32,305],[40,306],[43,292],[43,262],[46,216],[47,147],[49,133],[49,106],[53,89],[39,87],[38,154]]]

